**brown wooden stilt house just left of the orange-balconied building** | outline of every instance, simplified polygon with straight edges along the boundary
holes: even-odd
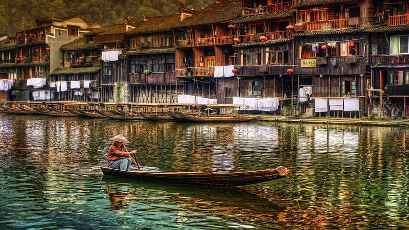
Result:
[[[179,14],[145,18],[126,34],[131,102],[177,102],[177,95],[183,93],[183,85],[179,85],[175,77],[172,30],[179,21]]]

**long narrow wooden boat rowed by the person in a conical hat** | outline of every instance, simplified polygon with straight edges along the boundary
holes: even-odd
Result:
[[[143,171],[138,169],[123,171],[103,166],[101,166],[101,170],[104,175],[211,187],[251,185],[253,183],[261,183],[278,179],[287,176],[289,173],[289,170],[283,166],[276,169],[232,173],[158,172]]]

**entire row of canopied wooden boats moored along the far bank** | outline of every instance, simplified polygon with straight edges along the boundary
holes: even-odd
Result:
[[[247,112],[243,110],[247,109]],[[90,106],[64,103],[62,106],[44,104],[3,105],[0,112],[11,114],[36,114],[53,117],[110,118],[115,120],[149,120],[182,122],[247,122],[261,115],[248,114],[247,105],[226,104],[116,104],[115,106]]]

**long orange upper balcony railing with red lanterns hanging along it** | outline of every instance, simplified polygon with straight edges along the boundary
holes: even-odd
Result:
[[[190,39],[190,40],[177,40],[176,48],[184,47],[200,47],[206,45],[219,45],[219,44],[234,44],[233,39],[239,38],[240,42],[251,42],[251,41],[260,41],[260,36],[266,36],[268,40],[284,39],[291,38],[291,32],[286,31],[276,31],[276,32],[266,32],[259,34],[246,34],[246,35],[229,35],[229,36],[220,36],[220,37],[209,37],[209,38],[199,38],[199,39]]]

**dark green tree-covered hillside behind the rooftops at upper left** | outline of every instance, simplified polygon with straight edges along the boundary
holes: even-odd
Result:
[[[15,35],[22,25],[35,25],[37,16],[66,17],[78,14],[86,21],[103,25],[123,23],[123,15],[143,20],[143,16],[178,13],[178,2],[200,10],[214,0],[1,0],[0,35]]]

